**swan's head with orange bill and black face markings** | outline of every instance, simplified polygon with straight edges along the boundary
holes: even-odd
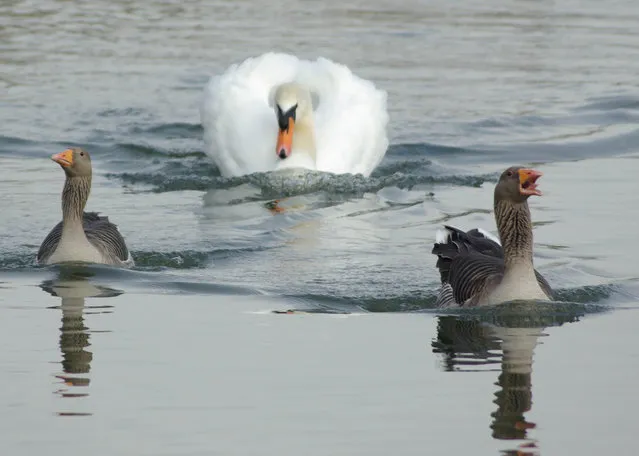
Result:
[[[275,115],[279,132],[275,153],[281,159],[293,151],[293,130],[295,124],[308,123],[313,112],[311,94],[299,84],[282,84],[275,91]]]

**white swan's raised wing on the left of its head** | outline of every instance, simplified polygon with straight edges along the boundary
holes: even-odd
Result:
[[[295,64],[266,54],[231,66],[204,89],[200,118],[206,153],[224,176],[275,168],[277,120],[272,89],[294,75]]]

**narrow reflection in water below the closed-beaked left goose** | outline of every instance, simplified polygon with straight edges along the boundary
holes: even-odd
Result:
[[[94,285],[89,278],[94,275],[89,269],[63,266],[58,276],[46,280],[40,287],[52,296],[61,298],[59,306],[50,309],[62,310],[60,327],[60,351],[62,353],[62,374],[55,374],[64,386],[56,393],[62,398],[83,398],[89,395],[89,372],[93,353],[88,350],[91,331],[86,326],[84,316],[88,314],[111,313],[110,305],[85,305],[85,298],[108,298],[122,294],[122,291],[102,285]],[[58,412],[60,416],[91,415],[86,412]]]

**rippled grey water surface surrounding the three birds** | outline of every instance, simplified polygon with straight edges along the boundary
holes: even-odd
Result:
[[[630,451],[638,19],[629,0],[0,4],[3,448]],[[268,51],[388,92],[371,177],[220,175],[202,89]],[[33,264],[68,145],[134,270]],[[494,231],[512,164],[544,172],[535,261],[563,303],[437,312],[436,228]]]

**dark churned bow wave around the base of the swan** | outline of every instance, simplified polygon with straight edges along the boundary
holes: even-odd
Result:
[[[385,187],[412,189],[437,184],[477,187],[498,177],[498,173],[477,175],[460,170],[451,173],[450,169],[434,165],[429,159],[431,154],[434,157],[453,154],[463,155],[464,159],[474,156],[485,158],[487,152],[483,149],[457,149],[422,143],[391,145],[382,163],[369,177],[302,169],[225,177],[206,154],[192,148],[175,150],[148,144],[118,144],[117,147],[120,161],[109,164],[106,177],[120,181],[130,191],[204,191],[209,193],[210,199],[215,199],[215,193],[219,191],[222,194],[228,191],[237,193],[229,199],[229,204],[266,202],[315,193],[361,197]]]

